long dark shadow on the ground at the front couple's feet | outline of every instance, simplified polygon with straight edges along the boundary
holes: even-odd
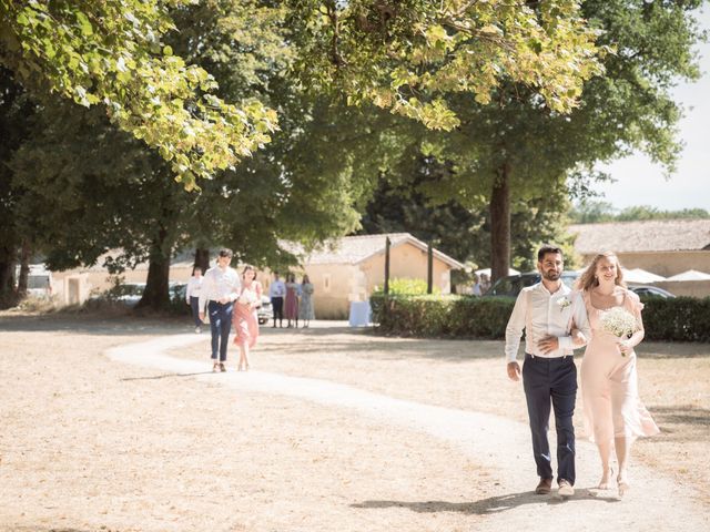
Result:
[[[365,501],[351,504],[352,508],[366,510],[379,510],[387,508],[406,508],[417,513],[438,513],[438,512],[458,512],[468,515],[491,515],[506,512],[525,504],[566,504],[574,503],[579,500],[595,500],[601,502],[619,502],[619,498],[613,495],[605,495],[597,490],[581,489],[577,490],[574,497],[562,499],[555,494],[537,495],[531,491],[521,493],[511,493],[508,495],[489,497],[474,502],[448,502],[448,501]]]

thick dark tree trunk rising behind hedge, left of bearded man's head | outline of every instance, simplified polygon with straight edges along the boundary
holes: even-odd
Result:
[[[510,267],[510,165],[497,171],[490,195],[490,269],[491,282],[508,275]]]

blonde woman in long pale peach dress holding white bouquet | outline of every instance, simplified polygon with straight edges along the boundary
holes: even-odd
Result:
[[[628,463],[631,443],[640,436],[659,432],[638,392],[636,352],[633,347],[643,339],[643,305],[626,288],[621,266],[611,252],[597,255],[578,280],[587,306],[591,339],[581,362],[581,391],[585,429],[597,443],[601,458],[600,490],[610,487],[613,472],[609,460],[616,451],[619,472],[619,495],[629,489]],[[627,310],[627,319],[636,329],[618,337],[610,332],[605,314],[615,307]],[[633,319],[633,318],[636,319]]]

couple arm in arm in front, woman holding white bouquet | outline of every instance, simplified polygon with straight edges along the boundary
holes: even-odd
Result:
[[[536,493],[551,491],[552,466],[547,431],[550,407],[557,431],[557,482],[561,497],[575,494],[575,430],[577,396],[574,349],[587,346],[581,364],[585,429],[601,459],[599,490],[612,485],[611,451],[616,451],[619,497],[629,489],[631,443],[659,432],[638,396],[633,347],[643,339],[638,296],[626,288],[615,254],[595,257],[572,291],[560,279],[564,258],[558,247],[542,246],[537,256],[540,283],[518,295],[506,328],[507,372],[523,377],[532,453],[539,483]],[[517,354],[525,329],[523,369]]]

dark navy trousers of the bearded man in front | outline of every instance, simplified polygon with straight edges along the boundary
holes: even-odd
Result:
[[[575,484],[575,398],[577,396],[577,366],[571,356],[542,358],[525,355],[523,387],[528,403],[532,453],[537,474],[552,478],[550,446],[547,441],[550,405],[555,411],[557,429],[557,481],[565,479]]]

